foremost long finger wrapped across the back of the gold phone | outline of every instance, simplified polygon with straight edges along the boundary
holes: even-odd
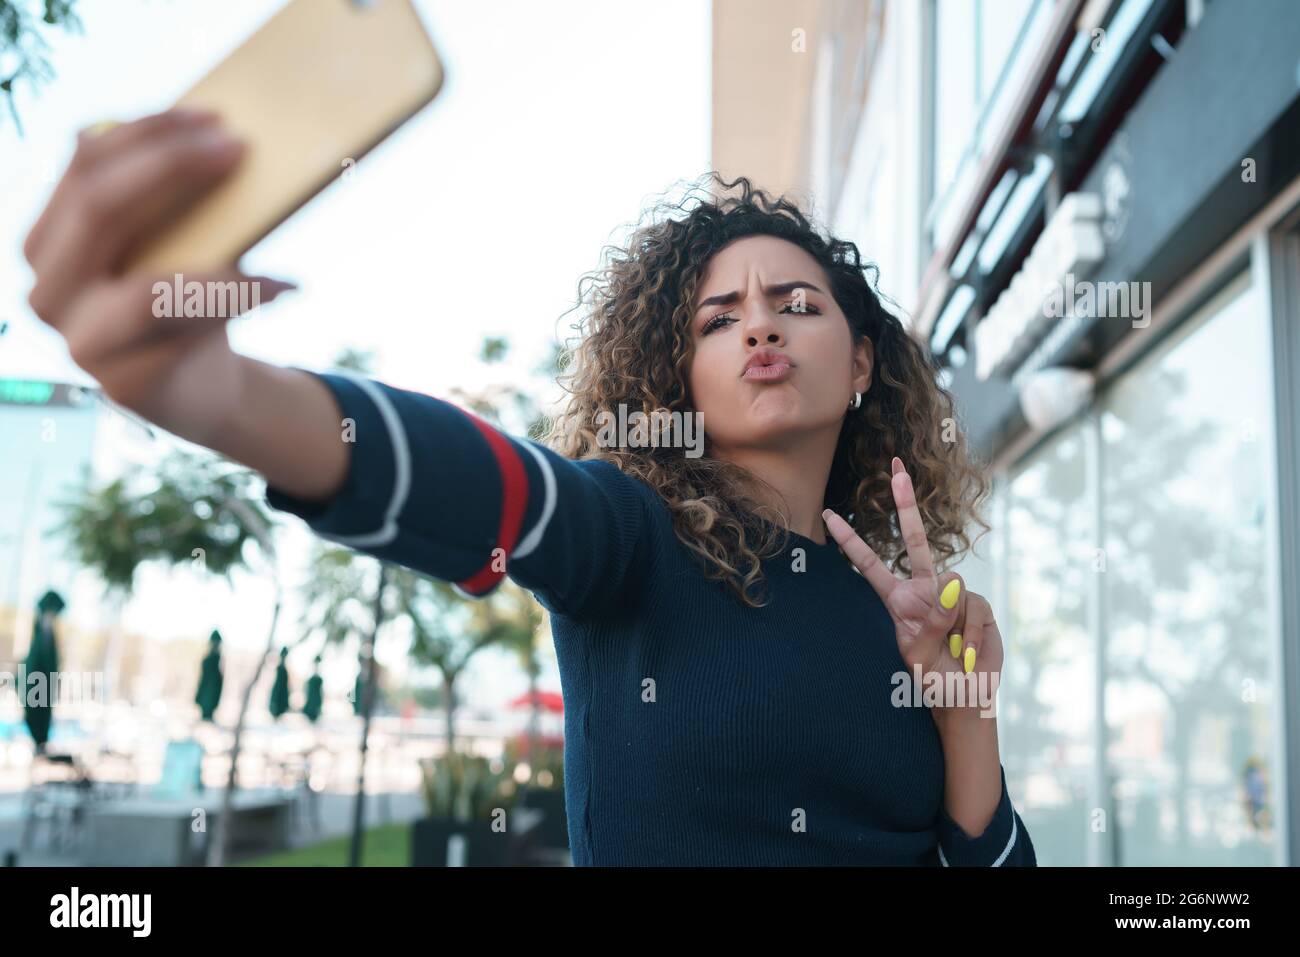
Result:
[[[199,129],[105,160],[49,224],[32,264],[32,309],[57,322],[84,281],[108,272],[146,233],[192,205],[231,170],[239,150],[233,138]]]

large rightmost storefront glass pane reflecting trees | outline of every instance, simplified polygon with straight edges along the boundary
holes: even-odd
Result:
[[[1243,273],[1102,403],[1118,865],[1275,862],[1264,298]]]

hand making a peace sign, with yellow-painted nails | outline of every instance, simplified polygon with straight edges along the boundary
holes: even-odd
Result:
[[[991,707],[1002,671],[1002,636],[993,611],[982,596],[966,592],[956,572],[935,576],[911,476],[897,456],[890,485],[911,563],[910,579],[894,577],[871,546],[829,508],[822,512],[827,529],[884,602],[909,675],[914,677],[916,666],[920,667],[926,701],[931,701],[927,689],[937,681],[942,692],[935,701],[945,711],[976,713]],[[975,681],[956,680],[966,675]],[[957,690],[965,693],[956,694]],[[988,700],[980,701],[985,694]]]

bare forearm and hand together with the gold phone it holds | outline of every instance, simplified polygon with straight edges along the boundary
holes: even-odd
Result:
[[[292,0],[182,108],[81,134],[23,243],[32,311],[108,398],[291,494],[328,494],[347,462],[333,399],[226,337],[291,283],[235,263],[441,85],[410,0]],[[209,291],[198,312],[176,274]],[[213,312],[213,289],[238,294]]]

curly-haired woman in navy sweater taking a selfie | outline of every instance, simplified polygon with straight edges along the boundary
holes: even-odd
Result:
[[[239,151],[203,113],[82,134],[23,248],[31,307],[109,398],[259,471],[322,537],[472,596],[533,592],[575,863],[1036,862],[987,693],[997,624],[940,572],[985,482],[852,243],[746,179],[641,226],[580,296],[543,445],[237,355],[224,317],[155,317],[157,277],[124,255]],[[682,428],[606,428],[655,410]]]

